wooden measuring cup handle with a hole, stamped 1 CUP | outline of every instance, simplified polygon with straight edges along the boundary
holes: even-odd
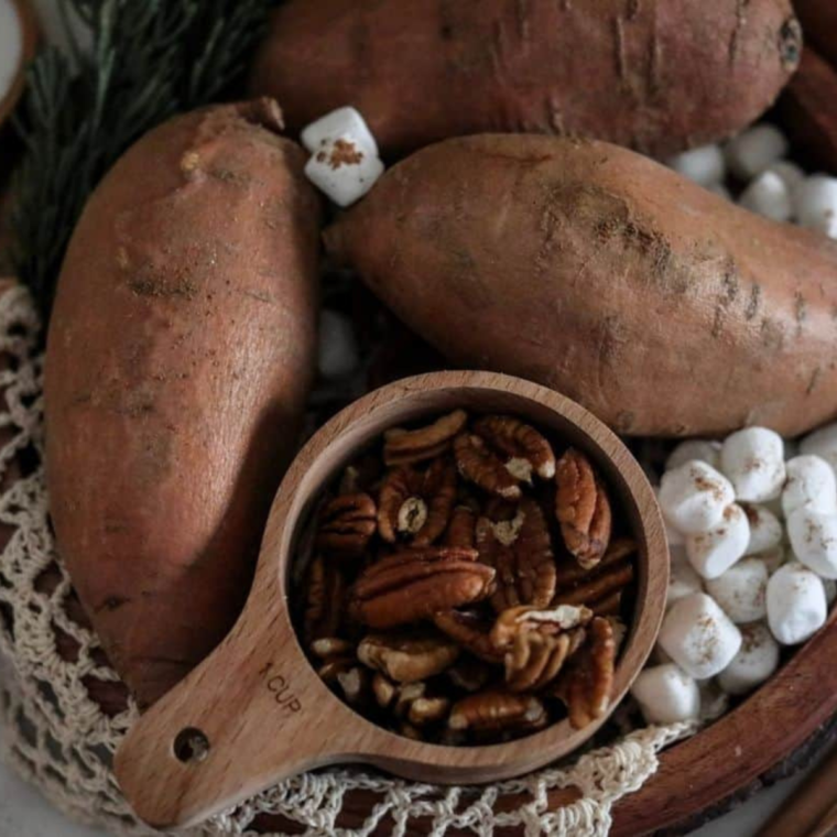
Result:
[[[351,711],[314,673],[279,613],[240,622],[131,728],[116,775],[142,819],[186,827],[339,757]]]

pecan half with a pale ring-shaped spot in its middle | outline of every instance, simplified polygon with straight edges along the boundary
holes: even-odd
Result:
[[[450,520],[456,469],[446,459],[434,460],[426,471],[396,468],[387,475],[379,500],[378,528],[384,541],[403,537],[414,546],[430,546]]]

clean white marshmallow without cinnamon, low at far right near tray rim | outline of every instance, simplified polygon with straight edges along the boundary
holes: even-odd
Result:
[[[823,581],[797,562],[780,567],[768,581],[768,624],[783,645],[805,642],[828,615]]]

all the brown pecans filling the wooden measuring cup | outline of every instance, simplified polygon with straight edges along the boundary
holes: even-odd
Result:
[[[388,431],[314,526],[298,629],[370,720],[485,744],[607,711],[637,547],[581,452],[457,410]]]

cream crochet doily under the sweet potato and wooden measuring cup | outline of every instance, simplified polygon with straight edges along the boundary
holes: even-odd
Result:
[[[55,552],[42,464],[40,324],[21,287],[0,297],[0,725],[3,757],[76,820],[117,835],[151,835],[132,815],[110,770],[135,707],[102,709],[102,688],[119,694],[96,637]],[[99,700],[91,697],[99,696]],[[518,827],[530,835],[606,835],[610,809],[655,772],[657,753],[693,731],[688,724],[640,729],[573,763],[487,787],[438,787],[354,769],[318,771],[265,791],[199,828],[195,837],[254,834],[260,814],[298,823],[306,835],[371,835],[388,823],[434,837],[466,829],[488,837]],[[578,787],[578,802],[548,809],[547,792]],[[372,791],[378,804],[361,827],[339,827],[347,794]],[[496,811],[509,794],[529,800]],[[502,806],[508,807],[508,805]],[[417,820],[421,819],[421,826]]]

